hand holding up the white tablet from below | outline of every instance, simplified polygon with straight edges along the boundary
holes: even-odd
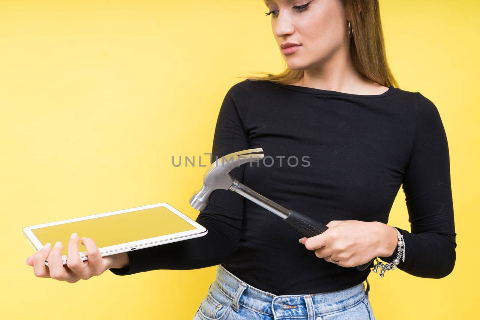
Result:
[[[68,283],[75,283],[80,279],[88,280],[94,275],[100,275],[109,268],[121,268],[128,265],[126,252],[102,257],[100,250],[92,238],[82,238],[82,244],[86,248],[87,261],[80,259],[78,249],[78,236],[72,234],[68,242],[67,264],[63,265],[63,246],[60,241],[53,248],[47,243],[42,249],[28,257],[25,261],[33,266],[33,273],[40,278],[52,278]],[[48,258],[48,266],[45,260]]]

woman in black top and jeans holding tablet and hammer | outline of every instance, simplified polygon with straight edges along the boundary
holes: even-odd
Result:
[[[452,272],[456,233],[444,127],[430,100],[394,86],[378,1],[264,3],[288,68],[230,88],[211,162],[262,147],[269,161],[232,175],[329,229],[299,245],[300,234],[273,213],[216,190],[196,220],[209,231],[204,237],[104,258],[84,238],[84,262],[73,234],[68,268],[57,243],[27,258],[36,276],[73,283],[107,269],[128,275],[218,265],[194,319],[312,320],[374,319],[363,284],[370,268],[354,268],[373,258],[388,263],[377,259],[374,270],[397,267],[425,278]],[[400,185],[411,232],[386,224]]]

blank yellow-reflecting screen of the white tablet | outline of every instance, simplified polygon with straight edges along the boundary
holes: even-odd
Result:
[[[118,213],[104,217],[86,219],[61,225],[32,229],[32,233],[45,245],[61,241],[62,255],[68,251],[68,241],[73,232],[78,237],[92,238],[98,248],[118,245],[130,241],[165,236],[196,229],[177,214],[164,206],[138,211]],[[79,242],[79,251],[86,251]]]

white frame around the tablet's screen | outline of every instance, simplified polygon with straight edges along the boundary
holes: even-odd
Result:
[[[33,229],[46,227],[46,226],[50,226],[50,225],[61,225],[61,224],[65,224],[65,223],[75,222],[75,221],[94,219],[94,218],[104,217],[104,216],[113,215],[113,214],[120,214],[120,213],[132,212],[132,211],[151,209],[151,208],[156,208],[156,207],[161,207],[161,206],[167,208],[172,213],[175,213],[180,218],[182,218],[184,221],[188,222],[190,225],[193,225],[195,227],[195,229],[182,231],[182,232],[177,232],[177,233],[164,235],[164,236],[159,236],[159,237],[146,238],[146,239],[137,240],[137,241],[125,242],[125,243],[121,243],[121,244],[117,244],[117,245],[113,245],[113,246],[108,246],[108,247],[98,248],[100,250],[100,253],[101,253],[102,257],[109,256],[109,255],[112,255],[112,254],[121,253],[121,252],[130,251],[130,250],[138,250],[138,249],[153,247],[155,245],[158,245],[159,243],[166,244],[166,243],[170,243],[170,242],[191,239],[191,238],[194,238],[194,237],[202,237],[202,236],[207,234],[208,230],[203,225],[200,225],[199,223],[192,220],[190,217],[181,213],[180,211],[178,211],[177,209],[175,209],[174,207],[172,207],[171,205],[169,205],[166,202],[148,204],[148,205],[144,205],[144,206],[140,206],[140,207],[122,209],[122,210],[111,211],[111,212],[106,212],[106,213],[86,215],[86,216],[83,216],[83,217],[77,217],[77,218],[72,218],[72,219],[48,222],[48,223],[40,224],[40,225],[29,225],[29,226],[26,226],[22,229],[22,234],[24,235],[24,237],[28,240],[30,245],[35,250],[40,250],[40,249],[43,248],[43,245],[38,240],[38,238],[34,235],[34,233],[32,232]],[[53,246],[53,244],[52,244],[52,246]],[[80,258],[83,261],[88,260],[87,252],[86,251],[81,251],[80,252]],[[63,260],[63,264],[66,264],[67,263],[67,255],[63,255],[62,260]],[[45,264],[48,266],[48,260],[46,260]]]

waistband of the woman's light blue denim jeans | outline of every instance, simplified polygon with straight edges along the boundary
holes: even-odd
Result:
[[[367,280],[347,289],[305,295],[276,296],[245,283],[222,265],[217,266],[216,279],[211,290],[220,290],[232,300],[232,308],[239,311],[247,306],[275,319],[324,316],[359,303],[370,290]]]

